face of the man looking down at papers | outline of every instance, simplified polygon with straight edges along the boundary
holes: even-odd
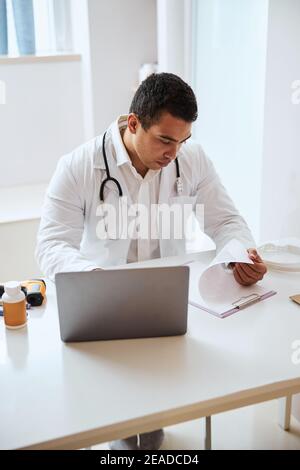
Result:
[[[191,137],[192,123],[165,112],[160,120],[146,131],[137,117],[132,144],[142,164],[151,170],[159,170],[172,162],[181,147]]]

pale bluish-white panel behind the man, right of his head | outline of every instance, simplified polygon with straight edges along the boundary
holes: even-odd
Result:
[[[195,135],[257,238],[268,0],[195,4]]]

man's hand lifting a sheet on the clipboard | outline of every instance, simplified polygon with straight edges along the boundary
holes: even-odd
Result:
[[[251,286],[261,281],[267,272],[267,266],[255,248],[249,248],[249,258],[254,264],[234,263],[232,266],[235,280],[242,286]]]

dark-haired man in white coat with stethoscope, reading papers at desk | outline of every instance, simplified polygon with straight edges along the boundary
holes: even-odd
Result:
[[[193,209],[202,205],[205,232],[218,250],[233,238],[244,244],[253,264],[231,266],[238,283],[251,285],[263,278],[266,266],[246,222],[212,162],[190,140],[196,119],[192,89],[176,75],[153,74],[138,88],[129,115],[119,117],[105,135],[61,158],[46,194],[36,249],[48,278],[58,272],[183,254],[184,235],[178,238],[172,230],[165,237],[156,225],[147,236],[138,236],[137,207],[149,214],[152,206],[174,203]],[[130,215],[134,206],[135,229],[126,236],[123,229],[114,230],[111,236],[104,206],[115,208],[118,215],[124,207]],[[111,448],[159,449],[162,440],[163,430],[158,430],[116,441]]]

